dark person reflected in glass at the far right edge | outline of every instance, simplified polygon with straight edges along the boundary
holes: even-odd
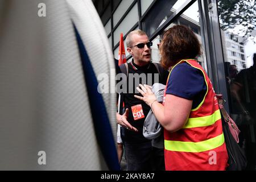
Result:
[[[230,93],[237,111],[234,120],[241,130],[240,144],[248,158],[247,168],[256,169],[256,53],[253,55],[253,65],[240,71],[230,85]]]

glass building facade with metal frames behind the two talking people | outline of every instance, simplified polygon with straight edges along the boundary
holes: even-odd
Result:
[[[247,6],[244,17],[251,15],[251,22],[227,11],[228,1],[216,0],[94,0],[98,14],[106,30],[114,57],[118,57],[119,37],[124,40],[130,31],[141,29],[148,35],[152,46],[152,61],[159,62],[157,44],[164,30],[175,24],[188,26],[202,44],[203,54],[199,63],[207,71],[216,93],[223,94],[225,108],[241,130],[240,145],[245,149],[247,169],[256,169],[256,3],[233,1]],[[237,3],[237,4],[236,4]],[[230,7],[230,9],[232,9]],[[229,10],[229,9],[228,9]],[[233,25],[233,22],[240,22]],[[229,24],[230,23],[230,24]],[[227,28],[228,27],[228,28]],[[249,31],[248,31],[249,30]],[[126,42],[125,42],[126,44]],[[125,45],[126,49],[126,45]],[[131,56],[126,51],[129,61]]]

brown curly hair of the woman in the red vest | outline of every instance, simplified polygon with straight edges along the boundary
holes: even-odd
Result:
[[[160,63],[168,69],[183,59],[195,59],[200,56],[201,44],[192,30],[176,25],[164,33],[160,55]]]

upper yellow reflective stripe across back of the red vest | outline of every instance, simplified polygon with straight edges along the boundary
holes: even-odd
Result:
[[[207,115],[197,118],[188,118],[187,123],[182,127],[183,129],[190,129],[192,127],[203,127],[213,125],[216,121],[221,119],[220,110],[216,110],[212,115]]]

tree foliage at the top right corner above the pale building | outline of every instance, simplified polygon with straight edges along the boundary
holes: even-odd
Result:
[[[219,0],[218,13],[222,30],[239,27],[238,34],[248,40],[256,29],[255,0]]]

